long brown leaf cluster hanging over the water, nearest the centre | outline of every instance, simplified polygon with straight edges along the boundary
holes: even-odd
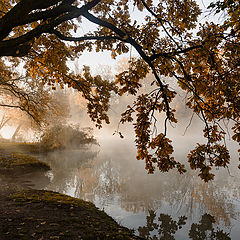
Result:
[[[174,94],[174,92],[168,92],[169,102]],[[136,115],[134,129],[136,133],[135,142],[138,149],[137,159],[145,160],[146,169],[149,173],[154,172],[153,164],[155,163],[162,172],[177,168],[180,173],[183,173],[186,171],[184,166],[175,161],[174,157],[171,156],[173,153],[171,140],[164,133],[157,134],[156,126],[151,127],[152,122],[156,122],[155,111],[161,113],[166,108],[163,101],[159,102],[158,95],[161,95],[160,90],[154,91],[150,95],[142,94],[138,96],[134,106],[131,107],[129,105],[128,109],[122,114],[121,123],[132,122],[134,120],[133,114]],[[177,122],[172,112],[169,121]]]

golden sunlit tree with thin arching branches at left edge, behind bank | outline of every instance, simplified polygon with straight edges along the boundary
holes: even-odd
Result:
[[[0,107],[5,108],[5,116],[13,118],[14,112],[11,109],[19,109],[40,125],[45,121],[47,112],[59,111],[58,102],[49,87],[30,76],[20,76],[11,71],[2,59],[0,70]]]

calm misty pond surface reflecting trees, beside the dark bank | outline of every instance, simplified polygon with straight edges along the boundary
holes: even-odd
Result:
[[[191,141],[179,140],[178,161],[186,159]],[[91,201],[148,239],[240,239],[237,156],[229,171],[218,170],[215,181],[204,183],[191,171],[148,175],[131,141],[100,144],[45,156],[52,172],[44,189]]]

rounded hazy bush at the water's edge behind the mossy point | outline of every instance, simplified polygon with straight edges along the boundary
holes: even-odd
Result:
[[[78,125],[57,125],[48,128],[40,138],[41,147],[45,150],[79,148],[85,144],[97,144],[91,128],[80,128]]]

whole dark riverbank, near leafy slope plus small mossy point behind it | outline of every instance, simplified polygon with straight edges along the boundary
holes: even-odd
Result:
[[[21,174],[19,165],[24,171],[39,168],[40,161],[27,156],[26,151],[25,155],[9,152],[15,148],[9,146],[8,151],[0,150],[0,168],[5,174],[12,174],[14,167],[18,169],[15,174]],[[49,166],[44,163],[41,166],[41,170],[48,170]],[[0,240],[141,239],[90,202],[5,182],[3,174],[0,171]]]

